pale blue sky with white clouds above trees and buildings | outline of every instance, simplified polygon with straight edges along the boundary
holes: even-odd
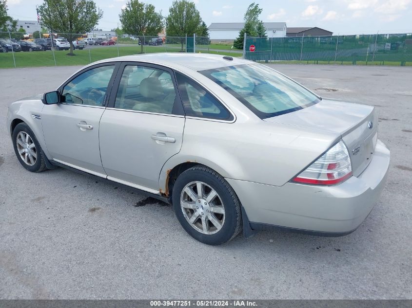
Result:
[[[118,15],[127,0],[95,0],[103,17],[98,28],[119,25]],[[212,22],[242,22],[253,0],[193,0],[201,18]],[[144,0],[167,16],[172,0]],[[412,0],[255,0],[264,22],[286,22],[288,27],[319,27],[339,34],[411,33]],[[8,0],[9,15],[36,20],[42,0]]]

